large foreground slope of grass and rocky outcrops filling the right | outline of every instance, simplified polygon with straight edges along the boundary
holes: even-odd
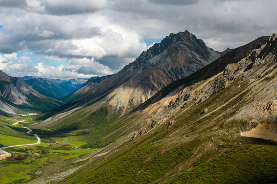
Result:
[[[93,122],[98,141],[113,143],[60,183],[276,182],[277,35],[260,47],[238,61],[231,51],[223,71],[180,82],[111,123]]]

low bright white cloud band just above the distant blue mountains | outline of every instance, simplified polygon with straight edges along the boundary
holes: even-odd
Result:
[[[80,60],[80,62],[72,62],[72,65],[61,64],[58,66],[44,65],[42,61],[47,59],[42,59],[40,57],[29,57],[26,55],[17,59],[17,53],[0,54],[0,68],[8,75],[14,77],[23,77],[25,75],[29,75],[46,78],[72,79],[90,78],[93,76],[109,75],[114,73],[109,69],[108,66],[104,66],[86,58],[75,59]],[[33,60],[38,61],[37,64],[29,65],[28,62]],[[86,72],[82,73],[82,70],[80,70],[80,72],[78,69],[80,69],[80,65],[84,64],[89,64],[90,66]]]

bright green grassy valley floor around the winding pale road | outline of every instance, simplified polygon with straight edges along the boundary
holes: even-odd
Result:
[[[12,125],[19,120],[25,120],[19,124],[28,126],[33,122],[33,118],[34,116],[26,116],[11,119],[0,116],[0,147],[36,143],[36,137],[33,134],[27,134],[27,130],[19,125]],[[5,150],[10,152],[12,156],[0,160],[0,170],[6,171],[0,172],[2,183],[26,183],[37,177],[36,171],[38,169],[51,164],[58,163],[54,167],[60,167],[59,172],[62,167],[67,169],[77,167],[80,165],[78,159],[81,159],[84,154],[93,154],[96,148],[76,149],[87,143],[85,140],[79,139],[81,138],[80,131],[70,131],[63,134],[57,131],[34,130],[34,133],[38,133],[42,138],[41,144]],[[51,171],[53,172],[53,169]]]

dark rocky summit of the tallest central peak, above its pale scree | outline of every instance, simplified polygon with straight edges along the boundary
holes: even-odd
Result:
[[[133,63],[132,70],[142,67],[143,71],[147,71],[153,66],[160,66],[168,76],[176,80],[199,70],[218,57],[206,47],[203,40],[185,31],[170,34],[161,43],[144,51]],[[182,64],[183,67],[176,64]]]

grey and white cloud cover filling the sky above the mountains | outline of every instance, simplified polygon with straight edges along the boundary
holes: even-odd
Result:
[[[17,76],[107,75],[146,50],[145,38],[185,30],[215,50],[239,47],[277,30],[277,2],[249,2],[0,0],[0,67]],[[9,58],[18,52],[54,58],[59,67],[39,56]]]

